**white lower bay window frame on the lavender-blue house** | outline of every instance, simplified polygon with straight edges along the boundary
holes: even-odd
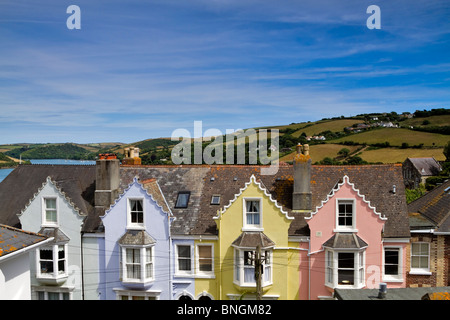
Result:
[[[151,250],[151,261],[148,262],[147,249]],[[127,250],[139,250],[139,262],[134,264],[139,264],[140,272],[139,278],[128,277],[128,264],[127,261]],[[151,276],[147,277],[147,264],[151,264]],[[155,250],[154,245],[147,246],[121,246],[121,269],[122,269],[122,282],[124,283],[150,283],[155,280]]]

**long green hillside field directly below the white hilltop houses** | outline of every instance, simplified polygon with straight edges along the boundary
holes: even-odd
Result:
[[[408,143],[409,146],[419,145],[423,143],[425,147],[431,146],[444,146],[450,141],[450,136],[411,131],[408,129],[400,128],[382,128],[376,130],[365,131],[361,133],[355,133],[350,136],[342,137],[333,140],[331,143],[353,141],[359,144],[375,144],[383,143],[385,141],[389,142],[391,146],[401,146],[402,143]]]

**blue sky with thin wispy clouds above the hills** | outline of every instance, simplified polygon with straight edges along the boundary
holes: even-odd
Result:
[[[0,1],[0,143],[448,108],[449,83],[447,0]]]

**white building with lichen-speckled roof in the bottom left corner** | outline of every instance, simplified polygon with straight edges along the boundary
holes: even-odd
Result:
[[[0,300],[31,300],[30,252],[52,238],[0,225]]]

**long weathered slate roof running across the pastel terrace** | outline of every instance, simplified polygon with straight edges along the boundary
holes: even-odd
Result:
[[[146,188],[157,181],[163,198],[176,220],[173,235],[217,235],[213,217],[238,194],[252,175],[270,192],[272,198],[294,217],[290,236],[308,236],[305,213],[292,211],[293,167],[280,165],[275,175],[261,175],[262,166],[253,165],[173,165],[121,166],[122,193],[135,177]],[[364,194],[377,212],[387,217],[384,237],[409,237],[408,213],[401,165],[312,166],[313,208],[327,198],[344,175]],[[86,210],[83,231],[96,232],[101,225],[94,210],[95,166],[22,165],[0,183],[0,223],[18,225],[17,214],[50,176],[66,196]],[[393,193],[393,185],[396,192]],[[154,185],[153,185],[154,187]],[[187,208],[175,208],[178,192],[190,191]],[[220,195],[219,204],[211,197]],[[157,199],[163,203],[162,197]]]

